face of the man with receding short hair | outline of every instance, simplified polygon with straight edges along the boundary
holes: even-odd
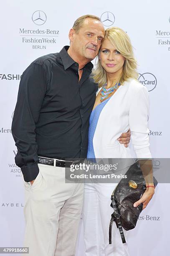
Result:
[[[78,59],[91,61],[98,54],[103,38],[104,26],[102,23],[99,20],[86,18],[78,33],[73,30],[70,38],[71,47]]]

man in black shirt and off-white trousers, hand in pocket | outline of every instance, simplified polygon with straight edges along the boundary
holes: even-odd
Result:
[[[84,15],[69,32],[70,47],[36,59],[21,77],[12,134],[25,185],[30,256],[75,255],[84,187],[66,184],[63,167],[65,159],[86,158],[98,89],[90,61],[103,38],[100,19]]]

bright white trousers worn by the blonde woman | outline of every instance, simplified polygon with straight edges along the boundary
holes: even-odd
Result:
[[[109,244],[109,223],[113,208],[111,195],[116,183],[87,183],[84,185],[84,243],[86,256],[129,256],[127,231],[122,243],[116,223],[112,225],[112,244]]]

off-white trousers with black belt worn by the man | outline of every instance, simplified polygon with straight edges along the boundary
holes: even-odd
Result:
[[[33,185],[24,181],[24,246],[29,256],[74,256],[84,184],[65,183],[65,168],[38,167]]]

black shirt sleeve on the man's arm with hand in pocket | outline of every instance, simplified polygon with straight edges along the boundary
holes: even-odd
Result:
[[[39,172],[35,130],[47,84],[47,73],[43,64],[30,64],[20,80],[12,135],[18,149],[15,163],[21,168],[26,182],[35,179]]]

